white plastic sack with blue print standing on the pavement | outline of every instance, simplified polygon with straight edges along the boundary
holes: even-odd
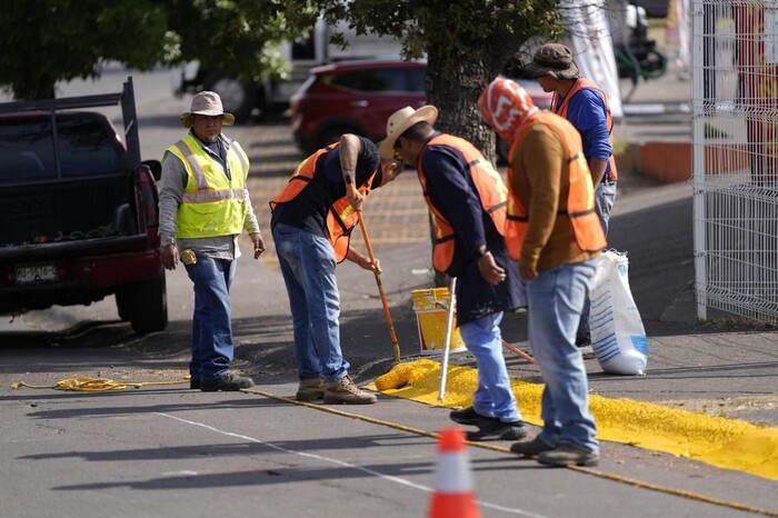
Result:
[[[608,250],[600,256],[589,300],[591,348],[606,372],[642,376],[648,341],[640,312],[629,289],[627,255]]]

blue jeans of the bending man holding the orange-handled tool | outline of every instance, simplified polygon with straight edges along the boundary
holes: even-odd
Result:
[[[276,225],[272,238],[292,313],[297,373],[339,380],[349,362],[340,351],[335,250],[326,238],[288,225]]]

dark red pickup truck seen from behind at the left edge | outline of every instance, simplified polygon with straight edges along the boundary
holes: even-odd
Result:
[[[126,145],[91,110],[117,104]],[[136,332],[164,329],[160,170],[140,159],[131,78],[119,93],[0,103],[0,315],[113,295]]]

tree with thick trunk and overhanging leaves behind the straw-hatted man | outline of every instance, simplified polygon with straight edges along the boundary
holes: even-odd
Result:
[[[290,0],[292,3],[297,0]],[[400,38],[407,58],[427,57],[427,101],[438,107],[438,129],[470,140],[493,159],[495,137],[477,100],[523,41],[553,34],[558,0],[320,0],[328,22],[357,33]]]

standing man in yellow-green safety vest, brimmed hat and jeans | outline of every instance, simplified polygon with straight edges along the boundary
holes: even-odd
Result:
[[[221,132],[233,122],[218,93],[194,96],[190,110],[181,114],[189,132],[164,151],[160,179],[162,265],[174,270],[180,260],[194,285],[189,386],[206,392],[253,387],[251,378],[229,371],[235,353],[230,285],[240,257],[238,236],[249,232],[255,259],[265,251],[246,188],[249,159]]]

